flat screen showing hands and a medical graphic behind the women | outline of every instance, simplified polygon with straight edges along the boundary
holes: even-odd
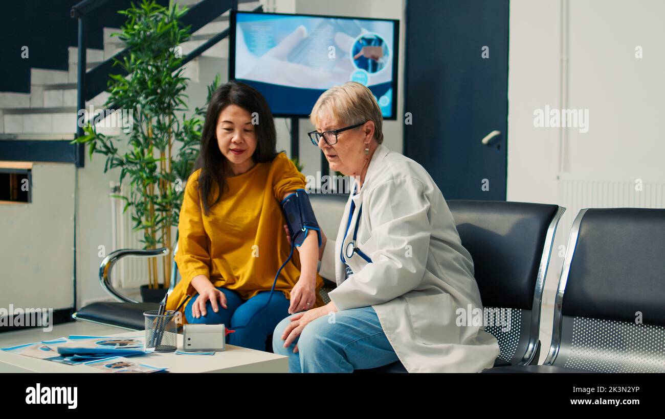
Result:
[[[394,118],[398,23],[390,20],[237,12],[231,78],[253,86],[277,116],[307,117],[321,93],[367,86]]]

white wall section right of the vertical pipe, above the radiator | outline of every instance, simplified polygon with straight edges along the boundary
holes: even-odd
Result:
[[[665,2],[570,1],[568,172],[665,180]],[[635,57],[642,47],[641,59]]]

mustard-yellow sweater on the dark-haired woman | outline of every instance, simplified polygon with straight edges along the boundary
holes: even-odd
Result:
[[[192,279],[207,276],[214,286],[237,292],[243,300],[260,291],[269,291],[277,269],[287,260],[291,245],[284,231],[280,203],[285,194],[305,188],[305,176],[283,152],[272,162],[257,163],[249,171],[227,177],[228,190],[221,200],[203,213],[199,204],[198,177],[200,169],[190,176],[180,209],[178,252],[175,259],[182,279],[172,292],[166,310],[176,310],[196,289]],[[216,195],[216,188],[212,196]],[[275,284],[291,298],[291,289],[300,276],[297,249],[282,269]],[[324,305],[319,290],[323,278],[317,274],[316,307]],[[184,316],[182,304],[180,312]]]

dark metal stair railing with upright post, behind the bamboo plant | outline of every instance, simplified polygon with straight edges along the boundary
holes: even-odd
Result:
[[[91,100],[99,93],[102,93],[108,88],[108,79],[110,74],[121,74],[127,76],[121,68],[112,68],[115,60],[122,60],[125,56],[130,54],[129,48],[116,53],[114,56],[105,60],[98,66],[86,72],[86,21],[95,9],[108,3],[110,0],[83,0],[76,3],[71,9],[71,17],[78,19],[78,64],[76,69],[76,109],[85,109],[85,103]],[[250,0],[251,1],[251,0]],[[237,10],[238,3],[249,3],[247,0],[202,0],[196,5],[192,6],[182,18],[182,24],[186,27],[192,25],[191,32],[194,33],[201,29],[217,17],[229,10]],[[259,5],[253,11],[261,11],[263,7]],[[222,30],[215,36],[211,37],[205,43],[201,44],[198,48],[183,57],[180,65],[173,68],[184,66],[194,58],[200,56],[208,48],[217,44],[220,40],[229,35],[229,29]],[[109,109],[117,110],[118,106],[112,104]],[[78,124],[76,119],[76,137],[83,135],[83,127]],[[84,145],[76,144],[76,166],[83,167],[85,162]]]

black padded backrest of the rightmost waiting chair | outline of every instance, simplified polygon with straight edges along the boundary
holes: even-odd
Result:
[[[665,326],[664,277],[665,209],[587,209],[563,315],[634,323],[642,312],[645,324]]]

